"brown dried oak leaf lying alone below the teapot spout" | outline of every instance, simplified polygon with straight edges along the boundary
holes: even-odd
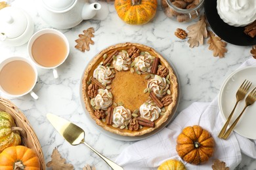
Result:
[[[89,51],[89,45],[95,44],[95,42],[91,39],[92,37],[95,37],[93,33],[95,33],[95,29],[93,27],[89,27],[88,29],[83,30],[83,34],[79,34],[79,39],[75,40],[75,42],[77,42],[75,48],[77,48],[81,52],[85,52],[85,50]]]

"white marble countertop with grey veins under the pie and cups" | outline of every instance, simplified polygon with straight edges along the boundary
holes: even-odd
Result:
[[[34,31],[51,27],[40,18],[37,1],[11,1],[12,6],[20,7],[32,16]],[[190,48],[188,42],[175,37],[174,32],[178,27],[186,29],[191,23],[173,22],[165,16],[160,5],[152,22],[146,25],[127,25],[117,16],[113,2],[99,3],[104,8],[106,16],[104,20],[85,20],[72,29],[59,29],[70,42],[70,55],[58,67],[60,74],[58,79],[54,79],[51,70],[37,67],[39,76],[33,91],[39,95],[38,100],[30,95],[12,98],[0,93],[2,97],[10,99],[20,108],[30,121],[41,143],[46,163],[51,161],[53,149],[58,148],[62,157],[68,163],[72,163],[75,169],[82,169],[86,164],[93,165],[96,169],[108,169],[108,165],[86,146],[72,146],[64,141],[47,120],[46,114],[49,112],[82,127],[86,132],[85,141],[111,160],[115,160],[123,148],[133,143],[117,141],[100,133],[85,116],[86,113],[81,106],[79,94],[81,76],[89,61],[100,50],[119,42],[139,42],[161,52],[174,65],[179,75],[181,99],[178,113],[195,101],[212,101],[218,95],[225,78],[246,59],[251,58],[251,46],[227,44],[228,52],[224,58],[213,57],[213,52],[208,50],[206,41],[199,47]],[[81,52],[74,48],[75,39],[89,27],[95,29],[95,37],[93,37],[95,44],[90,45],[89,51]],[[28,58],[27,44],[18,47],[1,44],[0,51],[0,59],[10,56]],[[242,163],[237,169],[253,169],[255,164],[255,160],[243,155]]]

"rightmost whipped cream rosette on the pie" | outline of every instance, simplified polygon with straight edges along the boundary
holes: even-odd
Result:
[[[169,84],[164,77],[155,75],[154,78],[148,80],[148,88],[158,97],[163,97],[166,94]]]

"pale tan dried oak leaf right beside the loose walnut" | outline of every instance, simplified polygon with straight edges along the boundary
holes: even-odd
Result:
[[[203,44],[203,38],[207,38],[205,16],[203,15],[196,24],[188,26],[188,44],[190,48]]]

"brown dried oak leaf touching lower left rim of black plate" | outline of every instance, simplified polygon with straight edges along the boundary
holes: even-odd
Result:
[[[212,31],[209,31],[208,35],[209,40],[207,41],[207,43],[209,44],[209,50],[213,50],[213,56],[219,56],[219,58],[224,58],[224,53],[228,51],[226,50],[226,42],[221,41],[221,38],[215,36]]]

